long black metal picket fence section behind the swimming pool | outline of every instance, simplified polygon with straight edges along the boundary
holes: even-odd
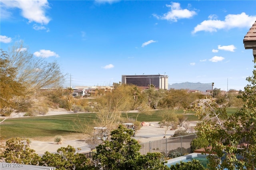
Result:
[[[191,141],[196,138],[196,134],[188,134],[186,136],[178,136],[165,138],[161,140],[150,141],[141,144],[140,153],[161,152],[168,155],[171,152],[180,152],[182,154],[190,154]]]

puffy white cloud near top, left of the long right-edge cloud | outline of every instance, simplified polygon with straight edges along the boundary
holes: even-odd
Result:
[[[171,2],[171,5],[166,4],[166,6],[170,8],[170,11],[165,13],[163,16],[158,16],[157,14],[153,14],[153,16],[157,19],[177,22],[178,19],[192,18],[196,15],[195,11],[180,8],[180,3],[177,2]]]

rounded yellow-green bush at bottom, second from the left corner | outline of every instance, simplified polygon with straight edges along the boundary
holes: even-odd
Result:
[[[46,151],[40,165],[53,166],[57,170],[84,170],[90,167],[90,159],[84,154],[76,153],[76,149],[68,145],[58,148],[55,154]]]

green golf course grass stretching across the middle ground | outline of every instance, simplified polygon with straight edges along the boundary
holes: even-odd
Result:
[[[227,108],[228,114],[236,112],[237,108]],[[161,121],[160,110],[150,111],[148,113],[140,113],[138,121],[151,122]],[[183,114],[183,110],[177,110],[177,114]],[[138,113],[128,113],[128,117],[136,119]],[[194,113],[187,113],[187,121],[198,121]],[[123,113],[122,117],[126,117]],[[74,121],[80,119],[82,123],[89,123],[93,126],[93,120],[96,119],[96,113],[79,113],[43,117],[24,117],[7,119],[1,123],[1,138],[8,139],[12,137],[42,137],[74,134]]]

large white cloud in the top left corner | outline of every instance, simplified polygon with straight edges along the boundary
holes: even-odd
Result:
[[[47,0],[3,0],[1,1],[1,9],[19,8],[21,15],[28,19],[28,22],[37,22],[40,24],[48,24],[50,18],[45,15],[48,6]]]

